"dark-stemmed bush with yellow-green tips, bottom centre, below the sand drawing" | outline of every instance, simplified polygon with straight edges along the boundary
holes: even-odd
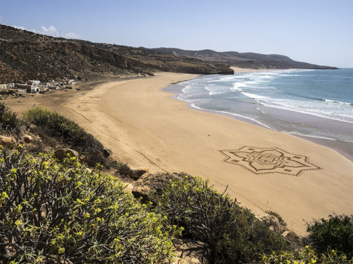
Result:
[[[173,180],[152,200],[156,213],[167,216],[171,225],[183,227],[184,236],[208,244],[210,263],[249,263],[260,253],[286,246],[282,236],[239,207],[236,200],[219,194],[208,181]]]

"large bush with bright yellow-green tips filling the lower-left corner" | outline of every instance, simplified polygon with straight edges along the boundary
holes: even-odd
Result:
[[[170,261],[174,229],[116,178],[75,158],[0,150],[0,263]]]

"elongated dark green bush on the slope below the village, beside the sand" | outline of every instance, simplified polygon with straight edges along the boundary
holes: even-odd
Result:
[[[105,151],[102,144],[78,124],[59,113],[37,106],[26,111],[23,119],[24,122],[38,126],[42,136],[51,135],[60,138],[71,148],[84,152],[89,165],[95,166],[98,162],[105,164]]]

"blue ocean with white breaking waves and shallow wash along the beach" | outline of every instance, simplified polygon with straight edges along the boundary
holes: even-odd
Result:
[[[353,68],[206,75],[168,89],[194,109],[293,135],[353,142]]]

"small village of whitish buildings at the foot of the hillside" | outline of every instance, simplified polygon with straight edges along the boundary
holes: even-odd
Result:
[[[55,90],[72,89],[77,85],[75,79],[64,78],[60,81],[51,80],[41,82],[39,80],[28,80],[26,82],[10,82],[0,84],[0,95],[24,95],[26,93],[48,93]],[[78,90],[78,88],[76,88]]]

